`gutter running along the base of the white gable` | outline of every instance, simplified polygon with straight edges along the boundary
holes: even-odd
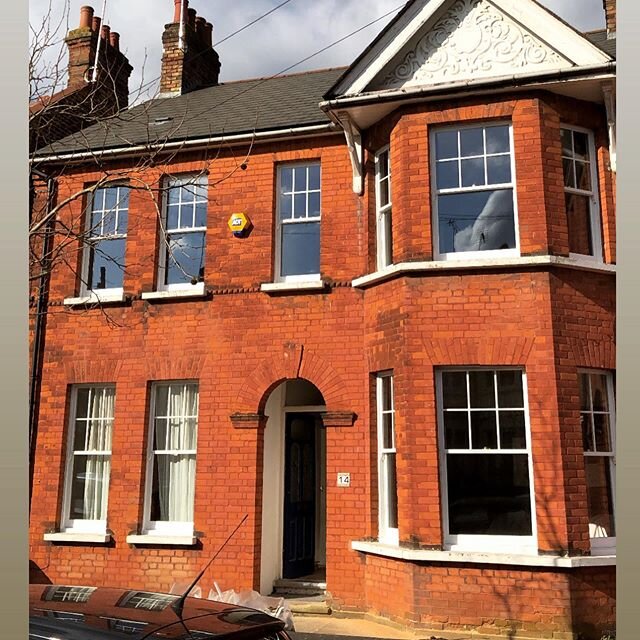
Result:
[[[442,99],[452,94],[474,93],[478,90],[494,91],[499,88],[519,87],[531,84],[550,83],[553,81],[567,81],[571,79],[579,79],[584,76],[611,75],[615,73],[616,62],[606,62],[604,64],[588,65],[584,67],[572,67],[570,69],[558,69],[548,73],[521,73],[511,76],[503,76],[499,79],[478,78],[473,80],[465,80],[464,82],[449,82],[432,87],[422,89],[393,89],[387,91],[377,91],[376,93],[366,93],[356,96],[345,96],[340,98],[331,98],[323,100],[320,108],[324,112],[331,109],[347,108],[350,106],[366,106],[370,104],[380,104],[384,102],[395,102],[399,100],[419,100],[433,97],[434,99]]]

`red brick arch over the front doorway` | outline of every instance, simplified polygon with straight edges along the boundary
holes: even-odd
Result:
[[[335,369],[303,345],[285,343],[278,355],[262,360],[247,376],[235,398],[235,411],[262,415],[273,389],[284,380],[294,378],[304,378],[318,388],[327,412],[349,409],[346,386]]]

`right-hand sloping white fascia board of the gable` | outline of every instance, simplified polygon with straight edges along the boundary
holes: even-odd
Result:
[[[542,42],[576,66],[610,62],[612,58],[562,20],[531,0],[485,0],[519,22]]]

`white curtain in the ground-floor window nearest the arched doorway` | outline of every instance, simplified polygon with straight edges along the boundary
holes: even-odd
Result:
[[[166,418],[156,419],[156,454],[160,519],[193,522],[198,387],[171,385]],[[158,415],[158,413],[156,413]],[[171,452],[171,453],[169,453]]]

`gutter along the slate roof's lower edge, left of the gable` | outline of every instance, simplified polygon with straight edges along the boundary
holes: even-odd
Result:
[[[104,157],[126,157],[131,155],[139,155],[154,150],[174,150],[174,149],[200,149],[208,147],[211,144],[242,144],[252,140],[270,141],[270,140],[295,140],[297,138],[306,137],[308,135],[328,135],[338,132],[332,122],[326,124],[309,125],[305,127],[290,127],[288,129],[274,129],[271,131],[258,131],[252,133],[239,133],[230,136],[212,136],[210,138],[197,138],[195,140],[174,140],[171,142],[157,142],[148,145],[135,145],[129,147],[116,147],[113,149],[97,149],[71,153],[60,153],[50,156],[35,157],[30,162],[81,162],[91,158]]]

